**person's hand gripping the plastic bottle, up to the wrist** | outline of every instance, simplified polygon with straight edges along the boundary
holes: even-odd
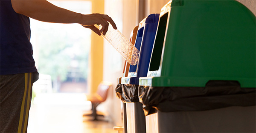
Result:
[[[81,25],[85,28],[90,28],[98,34],[99,36],[101,33],[105,35],[108,31],[108,22],[113,26],[114,29],[116,28],[115,22],[109,17],[108,15],[105,14],[88,14],[88,15],[82,15],[82,21]],[[102,25],[102,29],[99,30],[96,28],[94,25]]]

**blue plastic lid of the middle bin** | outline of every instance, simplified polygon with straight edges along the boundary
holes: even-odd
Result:
[[[156,36],[157,25],[160,14],[150,14],[140,22],[135,47],[140,50],[139,61],[136,66],[130,65],[129,73],[132,76],[145,77],[148,73],[148,66]],[[129,75],[129,74],[128,74]],[[130,84],[139,84],[139,78],[130,80]]]

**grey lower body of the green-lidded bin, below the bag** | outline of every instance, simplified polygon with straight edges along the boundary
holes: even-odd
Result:
[[[209,111],[158,111],[158,133],[255,133],[255,111],[255,106]]]

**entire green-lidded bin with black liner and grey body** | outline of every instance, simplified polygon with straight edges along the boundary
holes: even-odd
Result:
[[[147,133],[256,132],[255,21],[235,0],[171,0],[162,8],[139,80]]]

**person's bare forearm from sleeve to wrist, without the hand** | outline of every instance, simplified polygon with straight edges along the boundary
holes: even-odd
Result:
[[[57,7],[47,0],[12,0],[15,12],[33,19],[55,23],[82,23],[82,14]]]

